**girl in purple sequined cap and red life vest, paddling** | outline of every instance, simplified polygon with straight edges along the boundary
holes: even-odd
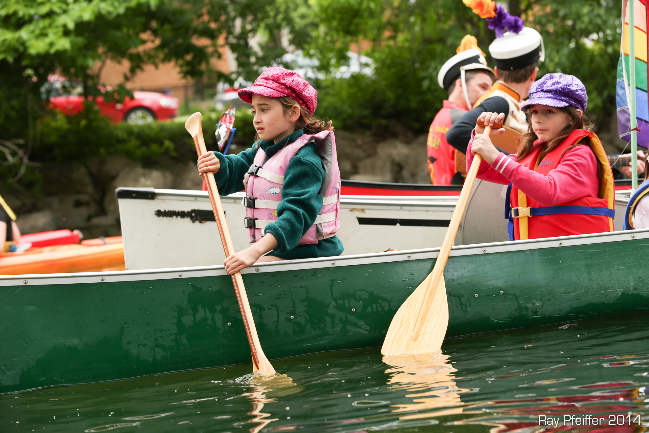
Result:
[[[511,240],[613,231],[613,175],[606,151],[583,115],[587,100],[582,82],[572,75],[552,73],[534,82],[522,106],[528,132],[513,155],[498,151],[484,127],[476,125],[467,169],[478,153],[483,158],[478,179],[509,184]],[[503,118],[502,113],[480,115],[491,126]]]

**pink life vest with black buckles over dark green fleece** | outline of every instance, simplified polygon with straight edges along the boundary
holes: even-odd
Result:
[[[263,228],[277,220],[277,206],[282,200],[282,184],[288,163],[305,144],[315,142],[324,167],[324,179],[319,194],[323,196],[323,208],[313,225],[300,239],[300,244],[318,243],[330,238],[340,227],[340,169],[336,156],[334,132],[324,130],[315,135],[303,134],[295,142],[286,145],[268,159],[258,149],[243,184],[246,197],[241,204],[246,208],[245,227],[251,243],[260,240]]]

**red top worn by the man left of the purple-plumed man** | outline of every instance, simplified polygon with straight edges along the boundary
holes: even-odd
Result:
[[[426,151],[428,153],[428,171],[434,185],[450,185],[456,173],[455,147],[446,141],[446,133],[453,122],[467,112],[467,108],[453,101],[444,101],[444,106],[433,119],[428,130]]]

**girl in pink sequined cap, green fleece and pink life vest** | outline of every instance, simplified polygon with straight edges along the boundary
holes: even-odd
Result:
[[[207,152],[198,160],[201,173],[215,173],[219,193],[246,191],[252,245],[227,257],[226,271],[340,255],[336,140],[331,121],[313,118],[317,92],[299,74],[273,67],[238,94],[252,105],[259,140],[238,155]]]

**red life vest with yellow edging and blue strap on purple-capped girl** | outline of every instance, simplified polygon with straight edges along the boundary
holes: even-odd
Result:
[[[561,144],[547,153],[543,160],[539,160],[539,156],[541,156],[541,146],[539,146],[519,163],[547,176],[550,170],[561,163],[564,151],[585,137],[589,138],[589,145],[600,162],[598,164],[600,180],[598,197],[582,197],[557,206],[543,206],[520,192],[515,186],[511,186],[509,195],[511,211],[509,211],[508,217],[513,217],[515,240],[612,232],[614,230],[613,173],[602,142],[594,132],[575,129]]]

